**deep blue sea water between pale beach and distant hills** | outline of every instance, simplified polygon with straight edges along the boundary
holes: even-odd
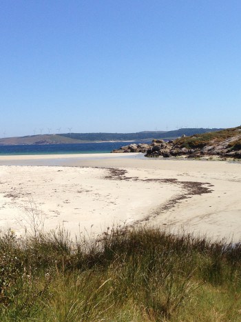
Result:
[[[123,145],[128,145],[131,143],[139,142],[128,141],[78,144],[0,145],[0,155],[109,153],[114,149],[118,149]]]

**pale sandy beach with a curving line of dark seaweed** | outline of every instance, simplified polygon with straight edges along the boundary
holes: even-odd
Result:
[[[0,157],[0,227],[99,234],[147,224],[212,239],[241,236],[241,163],[143,154]]]

